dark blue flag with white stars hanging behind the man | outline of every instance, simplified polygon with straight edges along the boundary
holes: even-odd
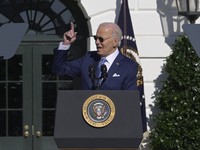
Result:
[[[140,93],[140,106],[141,106],[143,132],[146,132],[147,122],[146,122],[146,107],[145,107],[142,67],[141,67],[139,53],[138,53],[138,49],[136,45],[134,32],[133,32],[128,0],[122,1],[117,24],[122,30],[121,46],[119,47],[120,51],[124,55],[135,60],[138,63],[137,87]]]

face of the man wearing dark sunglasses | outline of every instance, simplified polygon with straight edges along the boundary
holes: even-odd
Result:
[[[112,27],[110,26],[100,26],[96,33],[96,47],[97,47],[97,54],[102,57],[107,57],[108,55],[112,54],[116,50],[117,46],[117,39],[112,37]],[[103,38],[103,42],[100,38]],[[100,39],[100,40],[99,40]]]

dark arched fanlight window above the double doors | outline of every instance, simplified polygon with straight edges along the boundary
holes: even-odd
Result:
[[[88,36],[86,18],[74,0],[0,0],[0,26],[29,24],[28,34],[62,35],[74,22],[75,30]]]

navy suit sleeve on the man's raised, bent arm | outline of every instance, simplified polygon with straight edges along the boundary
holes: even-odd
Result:
[[[52,72],[58,75],[78,77],[81,74],[81,59],[68,62],[68,50],[54,49]]]

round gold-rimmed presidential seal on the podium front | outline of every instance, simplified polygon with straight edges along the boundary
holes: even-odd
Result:
[[[105,127],[115,116],[115,105],[112,100],[101,94],[90,96],[83,104],[83,118],[93,127]]]

